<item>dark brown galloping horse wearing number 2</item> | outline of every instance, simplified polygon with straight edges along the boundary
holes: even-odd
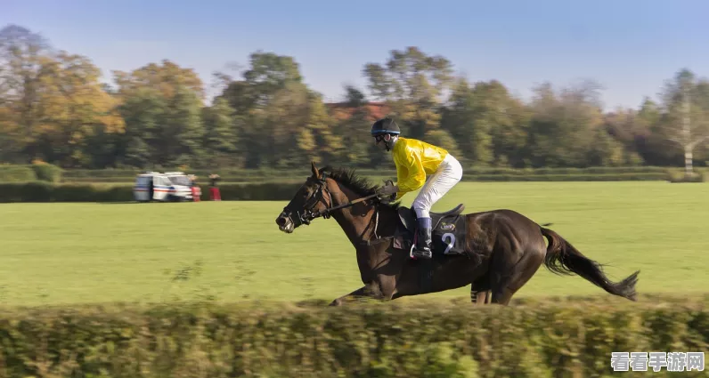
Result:
[[[471,294],[477,298],[490,292],[489,302],[507,305],[542,263],[554,273],[575,273],[607,293],[635,301],[640,271],[620,283],[611,282],[596,261],[563,237],[511,210],[461,214],[463,206],[459,205],[447,213],[431,213],[434,229],[438,224],[438,229],[448,233],[439,237],[432,260],[413,260],[409,245],[414,242],[415,226],[409,224],[415,225],[415,215],[406,207],[379,199],[376,189],[350,171],[318,170],[313,164],[313,175],[276,218],[279,229],[291,233],[315,218],[331,216],[355,246],[364,286],[331,305],[357,297],[392,300],[466,285],[471,285]],[[450,231],[456,226],[458,234]],[[464,239],[461,253],[444,254],[444,249],[447,252],[453,246],[445,246],[452,237],[459,242]]]

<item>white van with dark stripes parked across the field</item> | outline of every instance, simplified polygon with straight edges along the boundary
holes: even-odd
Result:
[[[192,201],[192,181],[182,172],[148,172],[135,178],[133,196],[138,202]]]

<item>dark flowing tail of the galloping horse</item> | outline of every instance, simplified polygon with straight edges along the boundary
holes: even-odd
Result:
[[[575,273],[596,286],[606,290],[610,294],[622,296],[631,301],[636,300],[635,284],[638,282],[640,270],[614,283],[603,273],[601,265],[580,253],[574,245],[571,245],[563,237],[560,237],[551,229],[540,227],[542,235],[549,240],[547,253],[544,257],[544,266],[551,272],[558,275],[570,275]]]

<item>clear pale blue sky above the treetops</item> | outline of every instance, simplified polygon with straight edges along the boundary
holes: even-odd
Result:
[[[707,20],[706,0],[0,0],[0,25],[86,55],[109,79],[169,59],[210,84],[263,50],[294,56],[306,83],[338,101],[343,84],[365,88],[366,62],[415,45],[525,99],[542,81],[592,78],[607,109],[656,98],[680,68],[709,76]]]

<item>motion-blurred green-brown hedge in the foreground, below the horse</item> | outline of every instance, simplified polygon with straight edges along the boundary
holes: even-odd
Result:
[[[709,350],[705,303],[343,308],[174,303],[5,310],[12,377],[705,377],[614,373],[615,351]]]

